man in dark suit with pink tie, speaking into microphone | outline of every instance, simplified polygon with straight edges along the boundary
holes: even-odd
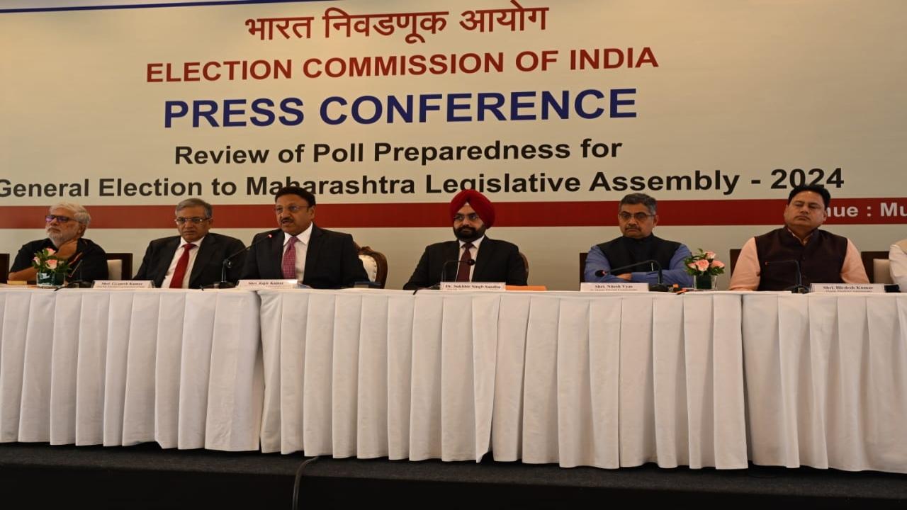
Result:
[[[242,280],[299,280],[313,289],[353,287],[368,281],[353,236],[319,229],[315,195],[286,186],[275,195],[278,230],[257,234],[249,247]]]

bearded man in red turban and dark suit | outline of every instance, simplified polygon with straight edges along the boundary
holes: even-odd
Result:
[[[526,285],[526,265],[520,249],[512,242],[485,236],[485,230],[494,224],[491,201],[479,191],[463,190],[453,197],[449,211],[457,240],[425,247],[404,289],[432,287],[442,280]]]

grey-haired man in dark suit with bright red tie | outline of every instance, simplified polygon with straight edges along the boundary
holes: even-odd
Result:
[[[224,259],[231,255],[227,281],[239,280],[246,247],[241,240],[209,231],[214,224],[210,203],[180,201],[174,221],[180,235],[152,240],[134,280],[152,280],[161,288],[200,289],[220,281]]]

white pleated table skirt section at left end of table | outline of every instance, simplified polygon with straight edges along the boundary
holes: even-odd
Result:
[[[0,289],[0,441],[258,449],[258,295]]]

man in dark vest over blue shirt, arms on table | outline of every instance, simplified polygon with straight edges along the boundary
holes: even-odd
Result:
[[[617,239],[597,244],[586,256],[583,270],[585,281],[620,283],[658,283],[658,268],[655,264],[640,265],[638,268],[618,270],[644,260],[658,260],[662,268],[663,283],[681,287],[692,287],[693,277],[687,274],[683,261],[689,257],[689,249],[673,240],[663,240],[652,234],[658,225],[658,202],[645,193],[630,193],[620,199]],[[599,276],[602,275],[602,276]]]

